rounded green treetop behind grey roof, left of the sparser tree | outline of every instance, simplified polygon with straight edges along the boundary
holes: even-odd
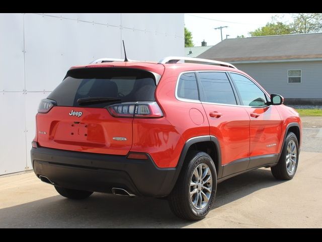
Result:
[[[264,27],[258,28],[250,32],[253,36],[266,36],[266,35],[281,35],[281,34],[291,34],[292,28],[283,24],[282,22],[267,23]]]

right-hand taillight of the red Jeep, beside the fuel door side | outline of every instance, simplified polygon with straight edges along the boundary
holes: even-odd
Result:
[[[114,117],[158,118],[163,112],[156,102],[123,102],[107,108]]]

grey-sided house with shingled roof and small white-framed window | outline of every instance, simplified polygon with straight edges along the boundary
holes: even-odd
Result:
[[[287,104],[322,104],[322,33],[225,39],[197,57],[233,64]]]

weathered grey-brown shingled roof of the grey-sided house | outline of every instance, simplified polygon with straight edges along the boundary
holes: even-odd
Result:
[[[322,58],[322,33],[225,39],[198,57],[223,62]]]

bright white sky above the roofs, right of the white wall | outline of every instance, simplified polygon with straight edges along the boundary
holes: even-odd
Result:
[[[207,45],[214,45],[221,41],[220,29],[214,28],[220,26],[228,26],[222,29],[222,38],[236,38],[237,35],[250,37],[250,31],[265,26],[271,22],[272,16],[276,13],[234,13],[234,14],[185,14],[185,27],[192,32],[193,43],[195,46],[201,46],[201,42],[205,40]],[[195,17],[197,16],[197,17]],[[202,17],[202,18],[200,18]],[[205,19],[206,18],[206,19]],[[213,19],[213,20],[210,20]],[[216,21],[215,21],[216,20]],[[225,22],[226,21],[226,22]]]

